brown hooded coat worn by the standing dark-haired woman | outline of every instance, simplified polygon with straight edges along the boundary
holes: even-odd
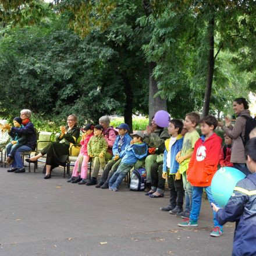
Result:
[[[241,111],[237,115],[234,126],[222,126],[222,130],[225,131],[227,136],[233,139],[230,159],[230,162],[232,163],[246,163],[246,158],[244,157],[244,144],[240,137],[241,134],[244,138],[244,134],[246,133],[246,118],[243,118],[242,115],[250,117],[250,110],[244,109]]]

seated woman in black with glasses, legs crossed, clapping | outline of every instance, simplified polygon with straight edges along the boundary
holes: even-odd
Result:
[[[41,153],[26,159],[27,162],[35,162],[38,158],[47,154],[46,158],[46,174],[44,179],[51,178],[51,170],[59,165],[65,165],[67,158],[69,157],[70,143],[76,143],[77,138],[80,135],[80,129],[77,127],[77,116],[67,116],[67,126],[61,126],[61,134],[57,138],[56,142],[47,145],[42,149]]]

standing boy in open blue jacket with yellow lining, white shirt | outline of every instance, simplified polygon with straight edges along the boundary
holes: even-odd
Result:
[[[177,153],[182,150],[183,136],[181,133],[183,122],[179,119],[172,119],[169,122],[168,133],[170,138],[165,141],[165,152],[163,154],[163,179],[169,175],[170,204],[161,207],[162,211],[169,211],[170,214],[177,214],[183,211],[184,189],[181,175],[178,172],[179,163],[176,161]]]

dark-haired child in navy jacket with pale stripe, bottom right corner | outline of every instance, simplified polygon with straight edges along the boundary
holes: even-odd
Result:
[[[247,167],[251,174],[240,180],[234,187],[232,196],[225,208],[212,208],[216,219],[224,225],[226,222],[236,222],[234,230],[232,255],[256,255],[256,138],[246,144],[245,155]]]

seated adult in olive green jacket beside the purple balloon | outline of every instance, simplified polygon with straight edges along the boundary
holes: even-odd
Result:
[[[138,160],[134,165],[134,169],[138,169],[145,165],[147,171],[147,179],[145,185],[145,192],[151,190],[151,166],[157,161],[157,156],[165,151],[165,140],[169,138],[167,128],[159,127],[152,118],[151,125],[147,126],[146,134],[143,142],[148,145],[149,155],[145,160]]]

